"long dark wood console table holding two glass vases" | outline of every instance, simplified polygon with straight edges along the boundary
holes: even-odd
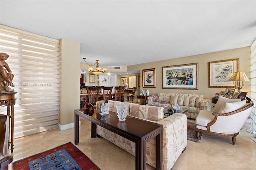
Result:
[[[157,123],[144,121],[134,117],[126,117],[124,127],[118,125],[117,114],[111,112],[108,114],[108,121],[101,120],[102,116],[96,111],[75,110],[75,144],[79,143],[79,116],[91,121],[91,137],[96,137],[96,125],[110,130],[132,142],[135,142],[135,168],[136,170],[146,170],[146,142],[156,137],[156,169],[162,170],[162,142],[163,126]]]

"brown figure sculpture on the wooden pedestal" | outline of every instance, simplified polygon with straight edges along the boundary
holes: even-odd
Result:
[[[14,87],[12,83],[12,79],[14,75],[12,74],[12,70],[10,69],[8,63],[5,62],[8,59],[9,55],[6,53],[0,53],[0,91],[13,91],[8,86]],[[7,72],[8,71],[8,72]]]

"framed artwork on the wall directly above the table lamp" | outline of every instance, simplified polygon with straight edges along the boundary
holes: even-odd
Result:
[[[208,86],[235,87],[234,81],[228,80],[236,71],[239,71],[239,58],[208,62]]]

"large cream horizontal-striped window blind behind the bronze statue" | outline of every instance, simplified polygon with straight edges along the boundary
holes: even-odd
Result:
[[[58,128],[59,40],[0,25],[0,52],[12,74],[14,138]],[[0,107],[6,113],[6,107]]]

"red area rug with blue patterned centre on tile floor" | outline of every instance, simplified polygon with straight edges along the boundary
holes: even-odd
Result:
[[[15,161],[13,170],[100,170],[100,168],[74,144],[68,142]]]

